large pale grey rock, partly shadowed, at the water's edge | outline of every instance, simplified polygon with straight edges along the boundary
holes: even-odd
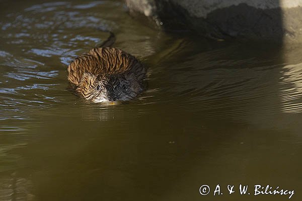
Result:
[[[302,41],[302,0],[126,0],[165,30],[215,39]]]

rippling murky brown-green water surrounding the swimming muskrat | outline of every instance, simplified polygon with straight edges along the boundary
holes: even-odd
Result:
[[[67,90],[66,65],[107,37],[96,28],[149,68],[129,104]],[[0,1],[0,37],[1,201],[288,199],[256,184],[301,200],[301,48],[165,34],[121,1]]]

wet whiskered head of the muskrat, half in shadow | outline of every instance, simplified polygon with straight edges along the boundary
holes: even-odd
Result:
[[[135,76],[101,75],[85,72],[76,89],[85,99],[105,105],[117,105],[130,100],[141,90]]]

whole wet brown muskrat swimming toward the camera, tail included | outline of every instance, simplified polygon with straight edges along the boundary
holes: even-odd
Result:
[[[99,47],[75,58],[68,65],[72,88],[87,100],[117,105],[130,100],[144,89],[145,67],[132,55],[110,47],[115,36]]]

